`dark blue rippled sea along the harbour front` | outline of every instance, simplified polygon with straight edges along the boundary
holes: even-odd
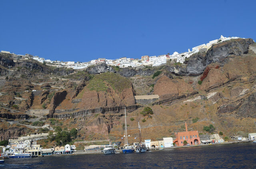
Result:
[[[256,169],[256,143],[163,149],[146,153],[6,159],[0,169]]]

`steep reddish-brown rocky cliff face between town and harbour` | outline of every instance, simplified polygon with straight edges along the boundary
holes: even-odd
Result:
[[[0,78],[0,106],[6,108],[0,110],[0,118],[21,120],[29,117],[17,111],[46,108],[49,117],[63,123],[61,127],[78,128],[86,140],[93,137],[122,141],[126,106],[130,138],[136,137],[138,122],[144,137],[152,140],[169,137],[174,130],[182,131],[185,121],[200,133],[205,132],[202,126],[213,124],[215,132],[224,132],[225,136],[237,131],[246,134],[253,131],[250,124],[256,118],[256,54],[248,49],[256,48],[252,43],[252,39],[225,41],[192,55],[185,64],[152,68],[99,64],[72,72],[34,61],[18,61],[11,68],[13,77]],[[152,77],[157,71],[162,73]],[[27,89],[37,91],[24,92]],[[158,100],[147,105],[154,114],[140,114],[143,107],[136,103],[136,94],[159,95]],[[22,126],[14,131],[13,126],[5,124],[0,139],[25,134]]]

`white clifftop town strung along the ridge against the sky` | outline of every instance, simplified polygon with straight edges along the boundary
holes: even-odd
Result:
[[[16,55],[15,53],[12,53],[14,57],[16,57],[17,60],[26,60],[26,59],[34,59],[40,63],[47,63],[49,66],[54,67],[67,67],[72,69],[84,69],[91,65],[96,65],[100,63],[106,63],[106,65],[110,66],[118,66],[118,67],[139,67],[139,66],[159,66],[162,64],[166,64],[166,61],[174,61],[175,63],[184,63],[185,59],[189,58],[191,55],[198,53],[200,51],[206,51],[212,47],[212,45],[228,41],[231,39],[238,39],[239,37],[224,37],[220,36],[220,39],[215,39],[212,41],[209,41],[209,43],[198,45],[196,47],[192,48],[192,51],[188,49],[188,52],[178,53],[174,52],[172,55],[159,55],[159,56],[142,56],[141,59],[133,59],[133,58],[127,58],[127,57],[121,57],[119,59],[106,59],[106,58],[98,58],[96,60],[91,60],[88,62],[74,62],[74,61],[51,61],[50,59],[44,59],[42,57],[33,56],[30,54],[26,55]],[[10,53],[9,51],[1,51],[2,53]]]

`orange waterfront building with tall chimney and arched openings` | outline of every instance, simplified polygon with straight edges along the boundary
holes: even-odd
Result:
[[[176,139],[173,141],[176,146],[183,146],[184,145],[184,140],[187,141],[187,143],[189,143],[189,145],[197,145],[200,144],[200,138],[198,135],[198,131],[188,131],[187,128],[187,123],[185,122],[185,126],[186,126],[186,132],[178,132],[175,133]]]

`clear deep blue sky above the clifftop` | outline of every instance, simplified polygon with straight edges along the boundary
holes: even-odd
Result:
[[[256,1],[1,0],[0,50],[59,61],[163,55],[256,39]]]

